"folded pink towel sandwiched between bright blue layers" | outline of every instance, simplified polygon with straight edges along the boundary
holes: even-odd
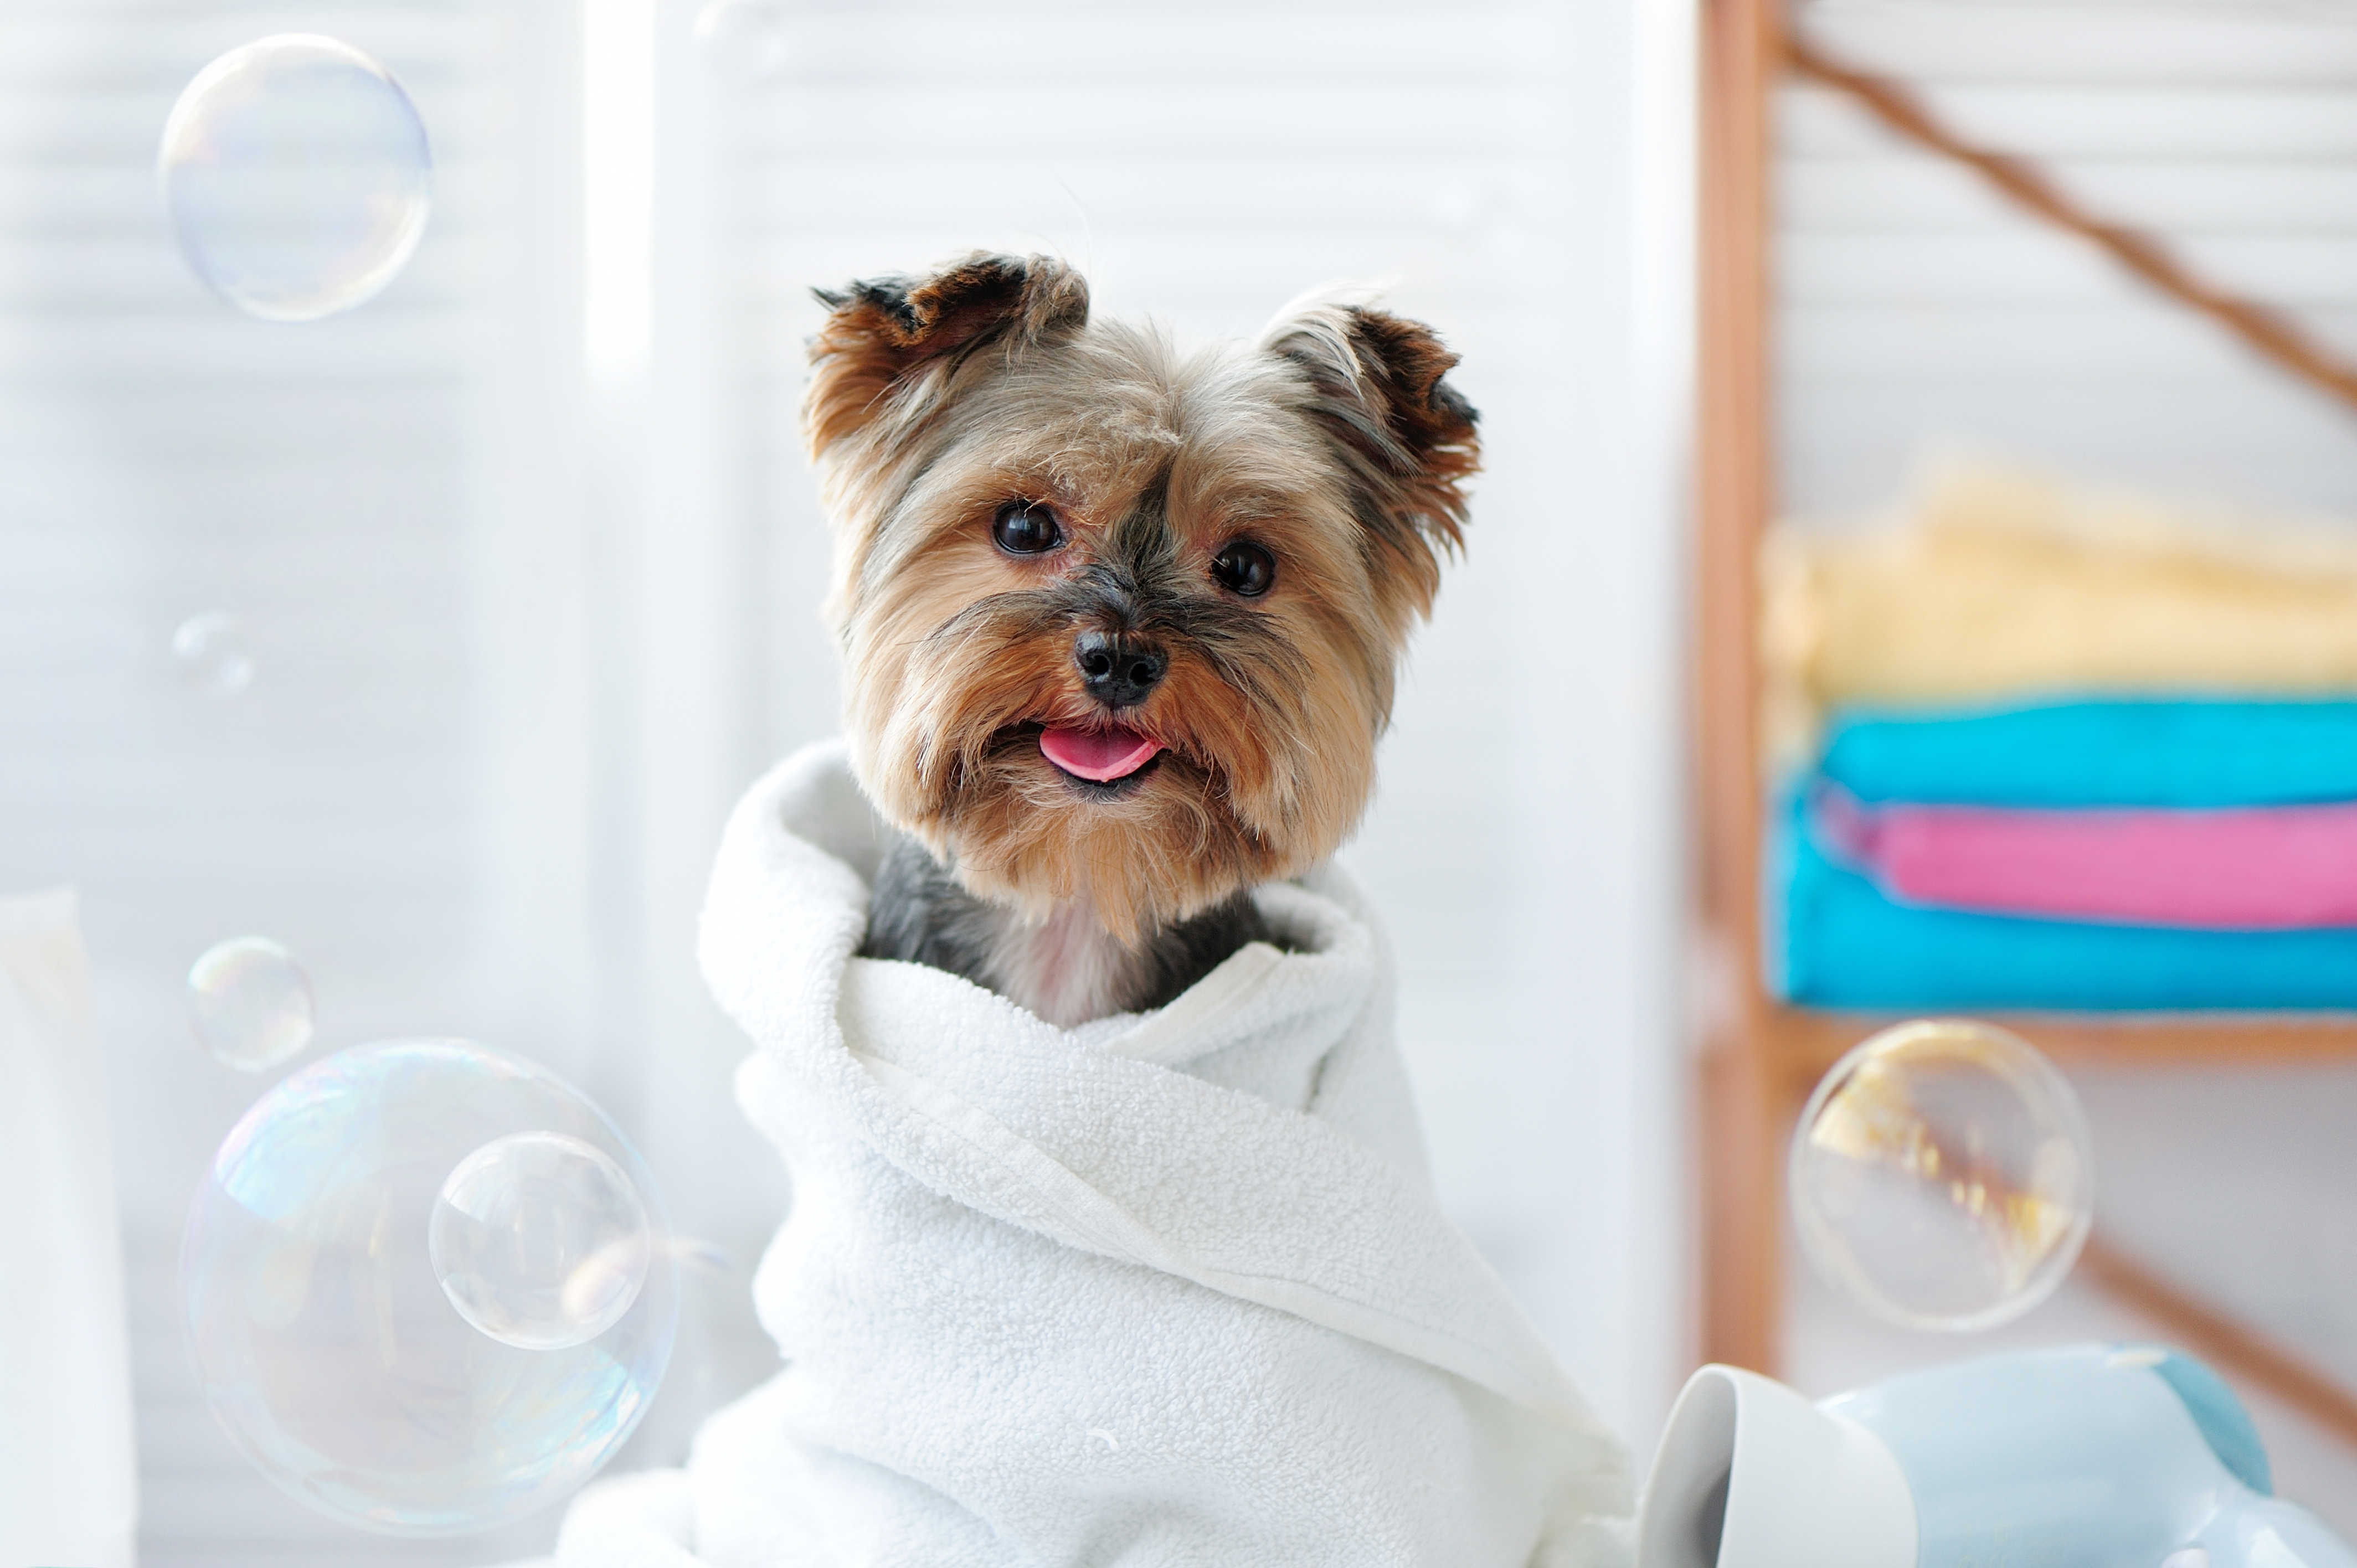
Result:
[[[1827,851],[1902,903],[2234,931],[2357,927],[2357,802],[2022,811],[1862,806],[1822,788],[1810,804]]]

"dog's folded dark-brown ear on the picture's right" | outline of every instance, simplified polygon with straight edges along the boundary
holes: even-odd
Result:
[[[1301,370],[1315,417],[1358,488],[1393,601],[1428,615],[1440,561],[1464,547],[1464,483],[1480,415],[1442,380],[1457,356],[1431,328],[1353,302],[1289,309],[1261,340]]]

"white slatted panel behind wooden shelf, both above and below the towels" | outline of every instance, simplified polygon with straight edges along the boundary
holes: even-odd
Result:
[[[1817,0],[1829,54],[1897,75],[1968,141],[2291,311],[2357,358],[2357,7],[2319,0]],[[1787,512],[1890,502],[1963,446],[2159,493],[2357,521],[2357,410],[1921,153],[1848,99],[1777,104],[1777,439]],[[2345,1068],[2091,1075],[2100,1224],[2357,1386]],[[2072,1290],[2006,1342],[2150,1335]],[[1801,1283],[1815,1391],[1940,1361]],[[2357,1460],[2260,1401],[2277,1476],[2357,1530]]]

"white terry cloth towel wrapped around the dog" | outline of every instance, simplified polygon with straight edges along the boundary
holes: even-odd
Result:
[[[705,908],[794,1212],[787,1368],[566,1568],[1523,1568],[1626,1556],[1629,1464],[1442,1219],[1341,877],[1146,1016],[1056,1030],[853,957],[884,828],[839,745],[738,806]]]

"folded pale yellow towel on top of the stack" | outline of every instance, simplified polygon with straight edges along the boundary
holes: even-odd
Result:
[[[1945,462],[1895,528],[1775,528],[1761,575],[1772,757],[1838,703],[2357,691],[2357,528]]]

